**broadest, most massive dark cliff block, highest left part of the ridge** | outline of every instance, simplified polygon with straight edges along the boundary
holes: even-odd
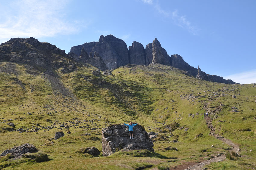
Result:
[[[113,35],[100,36],[92,52],[97,52],[102,57],[109,70],[129,63],[126,43]]]

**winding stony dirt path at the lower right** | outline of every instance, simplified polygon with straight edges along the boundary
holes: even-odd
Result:
[[[224,143],[233,147],[231,150],[229,150],[229,153],[231,153],[232,151],[237,153],[239,151],[238,145],[234,144],[229,139],[226,139],[226,138],[224,138],[220,135],[215,134],[215,128],[212,125],[212,120],[213,119],[211,119],[210,117],[205,117],[204,119],[206,120],[206,124],[208,124],[208,128],[211,128],[211,132],[210,132],[211,136],[214,136],[216,139],[219,139],[220,141],[223,141]],[[220,155],[220,156],[217,156],[213,159],[210,159],[210,160],[207,160],[207,161],[204,161],[204,162],[200,162],[200,163],[198,163],[194,166],[187,167],[184,170],[202,170],[204,165],[209,165],[211,162],[220,162],[220,161],[223,161],[224,159],[226,159],[226,155]]]

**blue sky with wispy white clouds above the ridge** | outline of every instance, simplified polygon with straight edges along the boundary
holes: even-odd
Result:
[[[70,51],[112,34],[155,38],[169,55],[238,83],[256,83],[256,1],[0,0],[0,43],[33,36]]]

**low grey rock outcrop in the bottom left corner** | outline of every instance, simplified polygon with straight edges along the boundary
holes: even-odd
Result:
[[[8,153],[13,153],[14,157],[17,157],[17,156],[20,156],[24,153],[28,153],[28,152],[33,153],[33,152],[37,152],[37,151],[38,150],[34,145],[23,144],[23,145],[16,146],[16,147],[13,147],[11,149],[5,150],[3,153],[1,153],[0,156],[5,156]]]

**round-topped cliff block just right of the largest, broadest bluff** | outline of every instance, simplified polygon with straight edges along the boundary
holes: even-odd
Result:
[[[146,65],[145,62],[145,49],[139,42],[134,41],[132,46],[129,46],[129,63],[136,65]]]

